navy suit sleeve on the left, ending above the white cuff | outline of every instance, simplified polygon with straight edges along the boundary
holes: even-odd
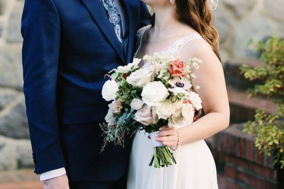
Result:
[[[56,105],[60,23],[52,0],[25,0],[21,33],[24,94],[39,174],[65,167]]]

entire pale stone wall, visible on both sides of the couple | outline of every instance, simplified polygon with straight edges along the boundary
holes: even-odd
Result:
[[[22,92],[20,23],[24,0],[0,0],[0,171],[32,167]],[[254,55],[249,38],[284,33],[283,0],[220,0],[214,25],[223,61]]]

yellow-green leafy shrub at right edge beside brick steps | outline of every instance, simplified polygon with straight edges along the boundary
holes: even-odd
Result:
[[[250,81],[261,80],[262,84],[255,85],[247,92],[250,97],[256,94],[269,97],[278,107],[274,114],[267,114],[263,109],[257,110],[255,120],[248,121],[244,131],[257,134],[255,146],[267,156],[274,155],[274,164],[279,163],[284,168],[284,40],[273,37],[266,43],[259,41],[256,50],[261,53],[264,65],[243,65],[241,74]]]

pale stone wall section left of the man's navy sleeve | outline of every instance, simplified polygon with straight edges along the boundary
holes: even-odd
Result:
[[[33,166],[22,92],[23,4],[0,0],[0,171]]]

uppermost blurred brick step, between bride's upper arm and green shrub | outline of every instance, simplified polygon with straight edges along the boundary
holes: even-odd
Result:
[[[240,67],[243,65],[260,66],[262,62],[256,59],[251,60],[231,60],[224,64],[224,74],[227,84],[233,85],[235,88],[246,90],[253,87],[255,84],[259,84],[261,81],[249,81],[240,74]]]

